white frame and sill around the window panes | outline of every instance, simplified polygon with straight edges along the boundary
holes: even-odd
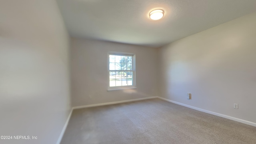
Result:
[[[109,70],[109,55],[116,55],[116,56],[132,56],[132,70]],[[136,82],[135,82],[135,76],[136,76],[136,66],[135,66],[135,54],[132,53],[126,53],[126,52],[108,52],[108,90],[123,90],[123,89],[130,89],[130,88],[136,88]],[[109,73],[114,71],[118,72],[132,72],[132,86],[111,86],[110,87],[110,80],[109,80]]]

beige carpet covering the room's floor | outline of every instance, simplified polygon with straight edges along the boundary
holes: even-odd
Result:
[[[74,110],[61,144],[256,144],[256,127],[155,98]]]

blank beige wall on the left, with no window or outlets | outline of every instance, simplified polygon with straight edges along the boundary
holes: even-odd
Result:
[[[0,1],[1,144],[56,144],[70,113],[69,36],[54,0]]]

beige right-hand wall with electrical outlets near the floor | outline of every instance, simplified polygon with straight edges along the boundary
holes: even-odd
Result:
[[[255,26],[252,13],[160,48],[159,95],[256,122]]]

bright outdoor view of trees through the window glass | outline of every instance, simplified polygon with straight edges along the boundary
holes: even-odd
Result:
[[[133,85],[132,56],[109,55],[109,83],[112,86]]]

